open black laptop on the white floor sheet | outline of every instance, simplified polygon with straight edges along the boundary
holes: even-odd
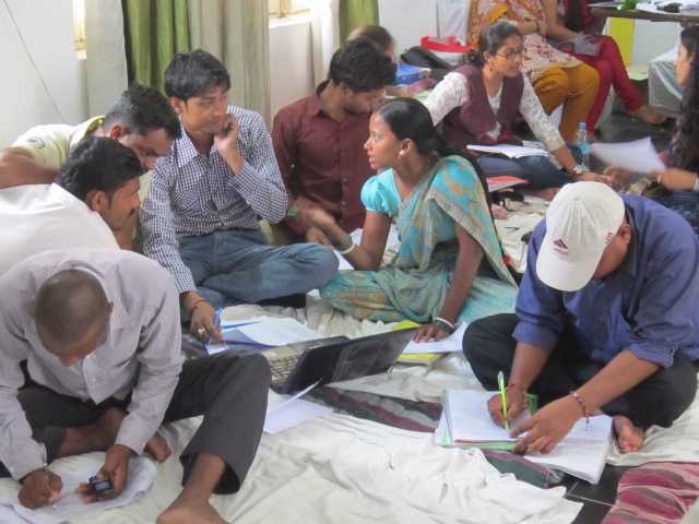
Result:
[[[335,336],[259,353],[270,364],[272,388],[294,393],[316,382],[325,384],[387,371],[415,332],[401,330],[354,340]]]

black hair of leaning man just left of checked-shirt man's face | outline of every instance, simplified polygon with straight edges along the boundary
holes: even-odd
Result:
[[[120,123],[130,132],[145,134],[164,129],[170,139],[179,139],[181,129],[173,106],[159,91],[133,83],[121,93],[105,116],[105,129]]]

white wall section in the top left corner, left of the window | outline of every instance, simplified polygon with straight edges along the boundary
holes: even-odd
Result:
[[[33,126],[86,118],[84,64],[73,48],[71,9],[71,0],[0,3],[0,147]]]

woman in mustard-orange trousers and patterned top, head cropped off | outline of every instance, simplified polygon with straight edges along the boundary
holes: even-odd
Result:
[[[562,104],[560,134],[571,142],[578,124],[588,120],[600,87],[600,75],[553,47],[546,40],[547,25],[540,0],[477,0],[472,16],[471,38],[475,43],[485,27],[508,20],[524,35],[522,72],[530,80],[544,110],[550,115]]]

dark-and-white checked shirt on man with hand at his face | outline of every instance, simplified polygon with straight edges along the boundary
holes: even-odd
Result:
[[[182,128],[170,154],[158,159],[141,209],[143,252],[175,276],[179,293],[197,289],[179,254],[180,238],[258,229],[259,217],[276,224],[286,215],[288,198],[262,117],[238,106],[228,112],[240,127],[240,172],[234,174],[215,145],[200,154]]]

